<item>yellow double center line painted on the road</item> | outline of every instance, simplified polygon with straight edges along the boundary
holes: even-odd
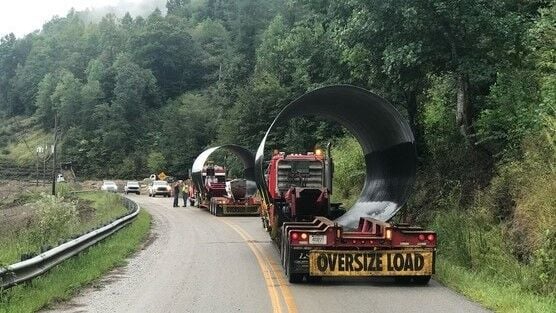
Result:
[[[297,306],[295,305],[295,300],[292,296],[290,288],[286,283],[284,273],[281,267],[272,260],[269,256],[267,256],[262,247],[256,243],[256,241],[251,237],[243,228],[240,226],[233,224],[223,218],[220,219],[226,225],[230,226],[233,230],[235,230],[241,238],[245,240],[255,257],[257,258],[257,262],[259,263],[259,267],[263,273],[264,280],[266,282],[266,287],[268,289],[268,295],[270,296],[270,302],[272,304],[272,312],[273,313],[282,313],[282,303],[280,301],[280,297],[278,295],[278,290],[276,286],[279,287],[280,293],[282,294],[282,299],[286,305],[286,312],[288,313],[297,313]]]

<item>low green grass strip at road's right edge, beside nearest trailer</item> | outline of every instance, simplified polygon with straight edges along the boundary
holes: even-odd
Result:
[[[435,278],[496,312],[556,312],[554,295],[526,292],[517,281],[472,271],[442,257],[437,258]]]

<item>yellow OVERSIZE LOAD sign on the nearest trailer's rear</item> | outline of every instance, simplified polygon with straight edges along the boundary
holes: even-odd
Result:
[[[425,276],[432,275],[430,250],[309,252],[313,276]]]

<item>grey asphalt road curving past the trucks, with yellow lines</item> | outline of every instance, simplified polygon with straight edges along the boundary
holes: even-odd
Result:
[[[257,217],[215,217],[170,198],[130,196],[153,235],[127,266],[48,312],[485,312],[431,281],[325,279],[287,283]],[[181,199],[180,199],[181,202]]]

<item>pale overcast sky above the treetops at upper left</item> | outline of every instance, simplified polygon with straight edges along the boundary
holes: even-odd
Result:
[[[2,0],[0,1],[0,36],[14,33],[22,37],[50,20],[65,16],[71,8],[78,11],[117,7],[132,15],[152,12],[156,7],[165,8],[165,0]]]

